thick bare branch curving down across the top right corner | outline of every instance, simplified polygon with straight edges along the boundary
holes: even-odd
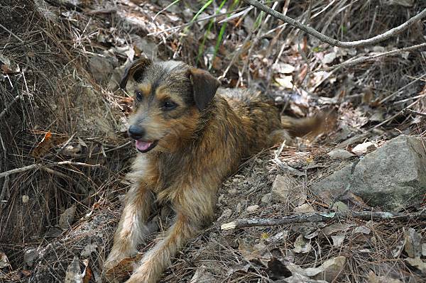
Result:
[[[329,45],[337,46],[339,48],[356,48],[359,46],[364,45],[371,45],[379,43],[383,40],[387,40],[388,38],[391,38],[392,36],[402,32],[403,30],[406,30],[408,27],[413,25],[416,21],[419,21],[421,18],[424,18],[426,16],[426,9],[418,13],[416,16],[413,16],[413,18],[408,19],[405,23],[403,23],[400,26],[397,26],[395,28],[392,28],[391,30],[386,31],[386,33],[382,33],[380,35],[376,35],[373,38],[367,38],[362,40],[356,40],[356,41],[339,41],[334,38],[329,38],[327,35],[323,35],[319,31],[315,30],[314,28],[311,28],[310,26],[305,26],[302,23],[296,21],[293,18],[290,18],[289,16],[285,16],[282,13],[279,13],[268,6],[265,6],[261,4],[259,1],[256,0],[243,0],[247,4],[250,4],[251,6],[255,6],[257,9],[261,9],[265,13],[268,13],[269,15],[279,18],[281,21],[284,21],[285,23],[289,23],[291,26],[294,26],[295,28],[299,28],[300,30],[305,31],[306,33],[309,33],[312,36],[315,36],[315,38],[318,38],[324,43],[328,43]]]

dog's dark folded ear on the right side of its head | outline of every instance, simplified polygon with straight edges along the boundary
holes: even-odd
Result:
[[[202,111],[212,101],[220,82],[212,74],[204,70],[191,68],[189,72],[195,105]]]

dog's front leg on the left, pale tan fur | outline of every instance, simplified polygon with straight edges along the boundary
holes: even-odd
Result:
[[[147,231],[146,221],[152,205],[153,194],[146,184],[134,184],[126,194],[124,210],[114,235],[114,245],[104,265],[106,271],[124,258],[136,255],[138,244]]]

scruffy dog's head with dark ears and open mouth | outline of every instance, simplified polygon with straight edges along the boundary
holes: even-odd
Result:
[[[220,84],[209,72],[183,62],[148,59],[126,69],[121,89],[130,78],[136,87],[128,132],[140,152],[173,151],[190,139]]]

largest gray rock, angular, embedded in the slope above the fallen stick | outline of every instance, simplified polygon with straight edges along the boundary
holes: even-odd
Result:
[[[361,196],[371,206],[398,211],[410,204],[420,204],[426,193],[425,139],[399,135],[369,153],[354,169],[350,192]],[[352,165],[311,186],[324,201],[344,192],[351,179]]]

